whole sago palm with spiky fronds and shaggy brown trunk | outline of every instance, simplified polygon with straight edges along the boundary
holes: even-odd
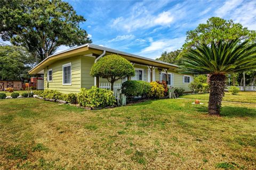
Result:
[[[189,50],[179,70],[182,73],[211,75],[208,112],[220,115],[226,74],[252,69],[256,69],[256,44],[236,39],[202,44]]]

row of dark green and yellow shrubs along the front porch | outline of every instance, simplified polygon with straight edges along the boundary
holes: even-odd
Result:
[[[175,88],[174,93],[176,96],[181,96],[185,90],[182,88]],[[125,94],[129,100],[134,97],[141,98],[160,98],[169,95],[169,88],[165,81],[136,81],[128,80],[122,84],[122,93]]]

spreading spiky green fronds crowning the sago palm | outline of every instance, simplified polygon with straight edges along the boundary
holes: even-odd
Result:
[[[228,74],[256,69],[256,44],[239,39],[198,45],[184,55],[179,70],[192,74]]]

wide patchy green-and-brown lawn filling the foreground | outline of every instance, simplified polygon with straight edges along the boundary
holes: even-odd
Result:
[[[256,169],[256,105],[162,99],[87,111],[0,100],[0,169]]]

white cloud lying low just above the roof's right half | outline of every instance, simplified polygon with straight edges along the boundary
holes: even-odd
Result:
[[[186,37],[179,37],[174,39],[159,39],[151,41],[150,45],[143,48],[138,55],[155,59],[161,56],[165,51],[171,52],[179,49],[185,43],[185,39]]]

